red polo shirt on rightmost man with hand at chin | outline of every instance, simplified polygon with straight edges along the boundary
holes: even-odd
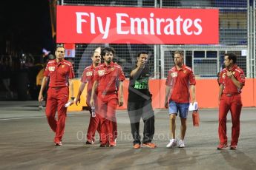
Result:
[[[233,81],[231,78],[226,76],[226,72],[228,69],[223,69],[220,73],[220,84],[224,85],[223,93],[231,93],[231,94],[236,94],[240,93],[241,89],[238,89],[237,86],[234,85]],[[246,78],[243,73],[243,69],[240,69],[240,67],[237,67],[237,65],[234,65],[232,69],[232,74],[234,75],[234,78],[237,79],[241,84],[245,84]]]

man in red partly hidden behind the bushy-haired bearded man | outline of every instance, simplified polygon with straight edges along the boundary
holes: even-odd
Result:
[[[79,92],[76,97],[76,105],[77,105],[77,103],[80,103],[80,96],[82,94],[82,91],[85,89],[85,85],[88,84],[86,103],[87,103],[87,106],[89,106],[91,118],[90,118],[90,123],[87,131],[86,144],[93,144],[95,141],[96,130],[98,129],[98,132],[99,132],[99,115],[97,114],[97,111],[96,111],[95,117],[92,115],[90,100],[91,100],[91,89],[94,83],[94,80],[93,80],[94,70],[100,64],[100,61],[101,61],[100,47],[96,48],[96,50],[93,51],[91,55],[91,60],[93,61],[91,66],[85,67],[85,70],[82,73],[82,78],[81,78],[82,84],[79,87]],[[96,101],[96,98],[94,98],[94,100]],[[94,104],[95,104],[95,109],[97,109],[96,103]]]

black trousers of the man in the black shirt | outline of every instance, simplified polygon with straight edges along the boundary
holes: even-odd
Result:
[[[152,100],[128,101],[128,115],[131,122],[131,134],[134,144],[140,141],[140,118],[144,122],[142,143],[151,143],[154,136],[154,111]]]

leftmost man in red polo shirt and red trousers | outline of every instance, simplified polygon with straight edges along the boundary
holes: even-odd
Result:
[[[39,92],[39,101],[43,100],[43,91],[50,78],[49,89],[47,91],[47,104],[45,114],[50,128],[55,132],[54,143],[56,146],[62,145],[62,136],[65,129],[65,119],[67,116],[67,108],[65,103],[68,102],[69,88],[71,91],[70,103],[73,103],[73,86],[70,79],[74,78],[72,64],[64,59],[65,48],[62,46],[56,47],[56,59],[50,60],[45,68],[45,77],[42,80],[41,89]],[[58,111],[58,120],[55,119],[56,111]]]

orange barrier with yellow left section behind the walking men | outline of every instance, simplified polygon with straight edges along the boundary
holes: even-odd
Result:
[[[74,94],[76,96],[80,80],[74,81]],[[128,99],[128,84],[129,81],[124,81],[124,104],[117,109],[127,108]],[[152,93],[152,105],[154,109],[163,109],[165,102],[165,79],[155,79],[149,81],[150,91]],[[81,95],[81,102],[78,106],[73,104],[68,107],[68,111],[82,111],[83,106],[87,106],[85,102],[86,88]],[[215,79],[197,79],[196,98],[200,108],[217,108],[218,107],[218,92],[219,86]],[[242,89],[243,106],[256,106],[256,78],[246,78],[246,86]]]

